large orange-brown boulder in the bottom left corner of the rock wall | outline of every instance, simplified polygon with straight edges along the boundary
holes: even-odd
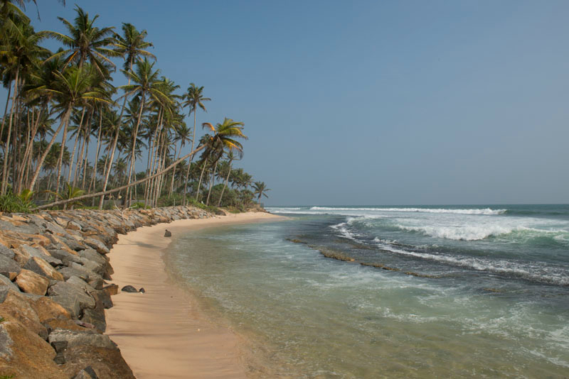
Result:
[[[69,378],[54,357],[53,348],[19,322],[0,324],[0,375],[14,375],[14,379]]]

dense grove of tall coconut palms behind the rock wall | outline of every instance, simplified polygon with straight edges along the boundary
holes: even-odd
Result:
[[[211,99],[193,82],[180,94],[161,75],[147,31],[131,23],[120,33],[97,26],[98,15],[79,6],[73,21],[58,17],[64,33],[34,31],[24,5],[0,0],[0,70],[8,92],[1,196],[64,209],[102,209],[105,198],[123,207],[191,202],[245,209],[267,197],[264,182],[234,167],[247,139],[243,122],[202,123],[206,134],[196,140],[198,111]],[[60,43],[57,51],[41,45],[49,38]],[[117,72],[127,84],[111,84]],[[136,172],[137,163],[146,169]]]

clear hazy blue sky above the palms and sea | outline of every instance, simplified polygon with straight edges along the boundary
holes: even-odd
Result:
[[[26,13],[63,32],[75,4],[97,26],[146,29],[161,75],[211,97],[198,123],[245,123],[237,165],[267,183],[265,205],[569,203],[569,1],[43,0],[41,21]]]

